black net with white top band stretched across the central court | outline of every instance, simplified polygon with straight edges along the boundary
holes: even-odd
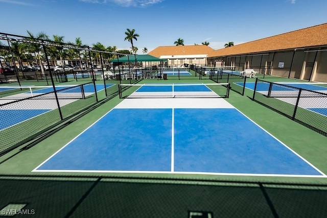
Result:
[[[229,83],[121,84],[120,98],[228,98]]]

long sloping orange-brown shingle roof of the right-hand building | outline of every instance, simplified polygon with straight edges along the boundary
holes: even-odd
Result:
[[[211,52],[208,57],[262,53],[327,44],[327,23]]]

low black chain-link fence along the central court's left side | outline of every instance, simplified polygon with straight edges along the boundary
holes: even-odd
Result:
[[[34,89],[31,93],[26,87],[17,88],[16,97],[12,93],[2,96],[8,102],[0,105],[0,156],[97,103],[92,82],[46,93]]]

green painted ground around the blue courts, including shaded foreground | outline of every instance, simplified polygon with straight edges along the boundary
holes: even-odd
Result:
[[[263,75],[256,76],[262,79]],[[265,80],[299,82],[271,76],[265,76]],[[254,82],[255,79],[247,81]],[[190,82],[214,83],[207,77],[199,80],[194,76],[181,77],[181,80],[177,77],[146,79],[139,83]],[[78,83],[85,83],[85,80]],[[78,83],[70,81],[64,84]],[[97,80],[96,83],[103,84],[103,81]],[[253,91],[249,89],[245,89],[244,96],[230,91],[225,100],[327,174],[326,137],[253,102],[249,98],[252,95]],[[19,203],[26,204],[24,209],[34,209],[33,217],[191,217],[190,213],[201,211],[202,214],[212,213],[214,217],[327,215],[327,178],[32,172],[122,101],[119,96],[103,101],[104,91],[99,92],[99,100],[98,107],[74,122],[71,118],[49,130],[49,137],[26,144],[26,149],[20,146],[0,157],[0,213],[8,204]]]

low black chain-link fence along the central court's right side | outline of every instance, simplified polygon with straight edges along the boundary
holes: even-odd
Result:
[[[326,93],[256,78],[252,100],[327,136]]]

